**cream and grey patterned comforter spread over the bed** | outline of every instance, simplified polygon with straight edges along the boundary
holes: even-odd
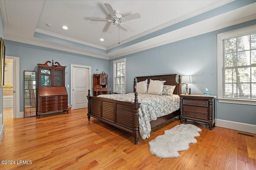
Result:
[[[110,98],[114,100],[123,100],[134,102],[134,93],[128,94],[102,94],[98,97]],[[180,108],[179,95],[154,95],[138,94],[139,109],[139,130],[142,139],[150,137],[150,121],[156,120],[157,117],[168,115]]]

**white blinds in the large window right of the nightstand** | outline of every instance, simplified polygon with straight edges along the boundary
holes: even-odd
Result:
[[[222,97],[256,100],[256,32],[222,40]]]

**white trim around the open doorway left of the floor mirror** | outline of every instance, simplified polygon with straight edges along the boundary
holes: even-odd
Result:
[[[15,67],[12,68],[13,72],[13,86],[15,90],[13,92],[13,118],[21,118],[20,112],[20,57],[5,56],[6,59],[12,59],[15,62]]]

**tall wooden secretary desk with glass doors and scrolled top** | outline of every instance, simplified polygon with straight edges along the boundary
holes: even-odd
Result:
[[[48,64],[51,63],[49,66]],[[38,65],[38,110],[37,115],[66,111],[68,92],[65,87],[65,66],[47,61]]]

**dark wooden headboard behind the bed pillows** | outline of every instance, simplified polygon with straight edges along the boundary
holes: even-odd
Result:
[[[166,75],[156,75],[156,76],[135,77],[134,84],[133,84],[133,92],[135,92],[136,79],[137,79],[137,82],[141,82],[148,79],[148,83],[149,83],[149,80],[151,79],[151,80],[165,80],[166,82],[164,84],[176,86],[173,94],[181,94],[181,76],[179,75],[178,83],[176,82],[176,76],[177,74],[166,74]]]

